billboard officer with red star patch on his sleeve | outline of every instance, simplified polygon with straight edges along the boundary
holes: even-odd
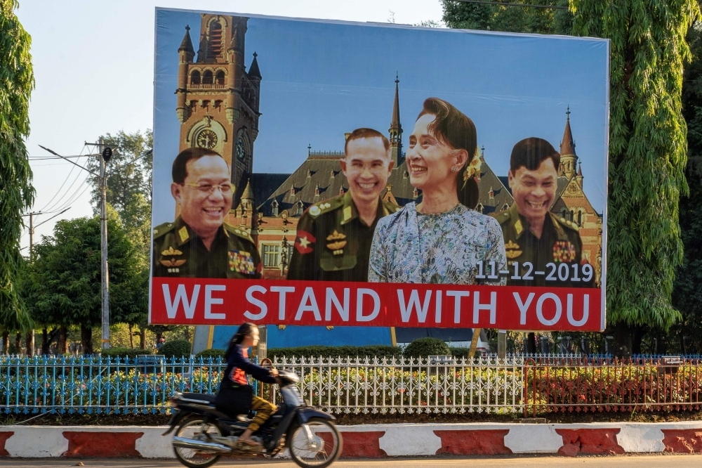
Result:
[[[340,163],[349,189],[300,216],[289,280],[367,281],[376,223],[399,209],[380,199],[393,164],[383,134],[353,131]]]

